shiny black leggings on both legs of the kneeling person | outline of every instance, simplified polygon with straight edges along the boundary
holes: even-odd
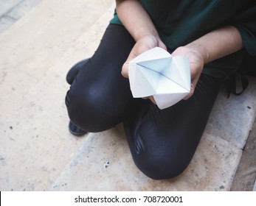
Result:
[[[153,179],[176,177],[196,152],[220,81],[202,74],[190,99],[165,110],[148,99],[134,99],[121,75],[134,43],[123,26],[108,26],[66,95],[69,118],[88,132],[123,122],[136,166]]]

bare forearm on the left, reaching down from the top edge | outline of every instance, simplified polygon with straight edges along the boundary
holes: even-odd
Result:
[[[134,38],[139,40],[147,35],[159,37],[151,18],[137,0],[117,0],[117,15]]]

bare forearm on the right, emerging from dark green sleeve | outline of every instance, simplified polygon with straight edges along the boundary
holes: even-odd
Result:
[[[234,26],[216,29],[186,45],[198,51],[204,63],[232,54],[243,48],[241,35]]]

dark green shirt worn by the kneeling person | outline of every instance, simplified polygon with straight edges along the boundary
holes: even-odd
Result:
[[[159,36],[170,51],[221,26],[235,26],[245,49],[204,67],[204,73],[226,76],[238,69],[244,55],[256,55],[255,0],[141,0]],[[111,24],[122,24],[114,13]],[[254,57],[255,58],[255,57]],[[255,68],[256,70],[256,68]]]

